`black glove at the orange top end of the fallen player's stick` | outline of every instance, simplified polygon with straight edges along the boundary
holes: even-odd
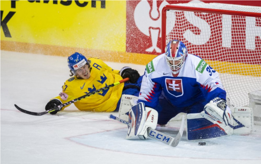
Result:
[[[132,84],[135,84],[136,81],[138,80],[138,78],[140,77],[140,74],[138,73],[138,71],[136,71],[135,69],[132,69],[130,67],[123,67],[120,70],[119,74],[124,79],[129,77],[129,82]]]

